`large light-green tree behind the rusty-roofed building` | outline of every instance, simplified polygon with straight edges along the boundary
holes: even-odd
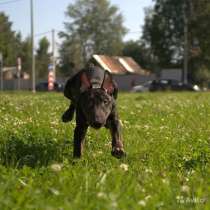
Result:
[[[108,0],[76,0],[68,6],[66,32],[61,46],[64,71],[70,63],[83,66],[95,54],[119,55],[122,53],[126,29],[123,17]]]

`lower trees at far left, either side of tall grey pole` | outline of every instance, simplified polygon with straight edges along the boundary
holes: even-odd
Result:
[[[37,78],[47,76],[50,62],[49,45],[49,41],[44,37],[36,50]],[[20,57],[23,71],[31,73],[31,38],[23,39],[20,33],[13,31],[12,22],[3,12],[0,13],[0,52],[3,55],[4,66],[16,66],[17,58]]]

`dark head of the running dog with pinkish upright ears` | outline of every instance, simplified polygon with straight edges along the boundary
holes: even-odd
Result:
[[[113,104],[115,84],[109,72],[105,72],[103,83],[100,87],[92,87],[90,79],[85,72],[81,74],[82,93],[80,96],[80,108],[93,128],[100,128],[106,124]]]

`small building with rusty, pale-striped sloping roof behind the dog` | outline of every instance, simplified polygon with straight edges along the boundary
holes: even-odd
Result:
[[[90,62],[109,71],[119,90],[130,90],[133,86],[155,77],[148,70],[141,68],[131,57],[93,55]]]

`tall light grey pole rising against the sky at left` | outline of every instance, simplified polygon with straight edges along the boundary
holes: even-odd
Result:
[[[31,55],[32,55],[32,92],[36,92],[36,69],[35,69],[35,55],[34,55],[34,4],[31,0]]]

